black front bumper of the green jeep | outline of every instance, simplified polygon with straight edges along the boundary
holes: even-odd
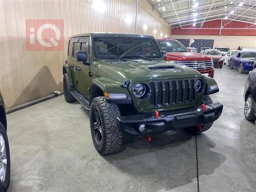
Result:
[[[212,103],[203,110],[201,105],[193,108],[159,112],[159,117],[148,112],[140,115],[117,117],[119,129],[131,135],[158,134],[170,130],[187,128],[196,125],[204,125],[214,122],[222,113],[221,103]],[[140,131],[140,125],[145,125],[145,130]]]

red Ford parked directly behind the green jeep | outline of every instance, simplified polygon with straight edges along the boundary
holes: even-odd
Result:
[[[179,41],[169,38],[156,38],[162,51],[167,52],[166,61],[173,61],[177,64],[192,67],[204,76],[214,76],[212,58],[200,53],[190,52]]]

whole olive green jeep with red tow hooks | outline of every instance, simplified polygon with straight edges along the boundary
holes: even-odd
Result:
[[[69,39],[64,96],[90,110],[99,154],[118,151],[124,133],[148,136],[189,127],[203,132],[221,115],[223,105],[209,96],[219,90],[216,81],[165,58],[149,35],[87,33]]]

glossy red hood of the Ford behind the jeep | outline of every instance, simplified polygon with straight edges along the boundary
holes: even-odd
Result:
[[[211,58],[196,52],[167,52],[167,61],[206,61],[206,60],[211,60]]]

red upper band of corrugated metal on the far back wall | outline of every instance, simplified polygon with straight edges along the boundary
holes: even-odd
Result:
[[[238,21],[230,20],[223,20],[221,29],[221,35],[236,35],[236,36],[256,36],[256,26],[250,27],[250,29],[236,29],[236,28],[246,28],[253,24],[250,23],[243,23]],[[228,24],[227,24],[228,23]],[[226,25],[227,24],[227,25]],[[182,28],[189,28],[189,29],[181,29],[180,27],[175,27],[172,29],[172,35],[219,35],[220,34],[220,27],[221,27],[221,20],[212,20],[207,21],[204,23],[202,29],[194,29],[200,28],[199,24],[187,25],[183,26]],[[207,29],[207,28],[218,28],[218,29]],[[235,29],[230,29],[235,28]]]

